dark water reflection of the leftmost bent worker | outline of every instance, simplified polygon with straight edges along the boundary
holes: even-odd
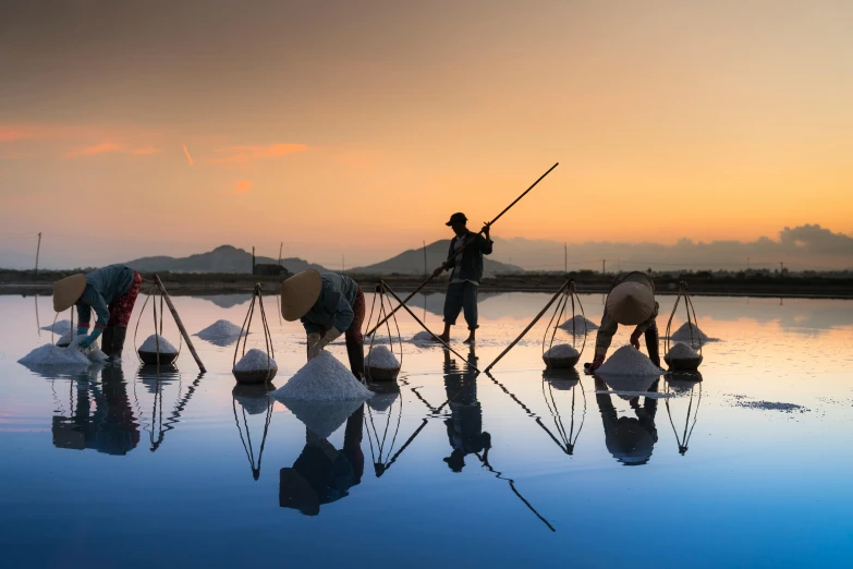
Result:
[[[103,367],[101,379],[101,385],[94,380],[77,383],[74,415],[53,416],[53,446],[92,448],[106,455],[126,455],[136,448],[139,424],[133,415],[121,367]],[[90,414],[93,399],[95,411]]]

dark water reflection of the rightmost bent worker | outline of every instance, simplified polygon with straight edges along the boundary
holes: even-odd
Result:
[[[596,391],[607,391],[607,384],[596,376]],[[648,389],[657,392],[658,380]],[[658,440],[658,432],[655,427],[655,413],[658,409],[658,400],[644,397],[645,402],[641,407],[639,397],[629,400],[631,409],[636,417],[619,416],[610,400],[610,395],[598,392],[595,396],[598,410],[601,412],[601,421],[605,425],[605,445],[622,464],[635,467],[645,464],[651,458],[651,450]]]

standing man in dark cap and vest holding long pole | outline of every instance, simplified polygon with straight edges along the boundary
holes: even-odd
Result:
[[[473,343],[477,325],[477,290],[483,280],[483,255],[491,255],[492,241],[489,237],[489,225],[483,226],[479,233],[472,233],[467,228],[468,218],[463,213],[450,216],[448,227],[453,229],[454,237],[450,240],[448,261],[441,264],[434,277],[453,269],[450,274],[450,284],[444,296],[444,331],[439,336],[442,341],[450,341],[450,327],[456,324],[460,311],[465,313],[468,325],[468,337],[465,343]]]

